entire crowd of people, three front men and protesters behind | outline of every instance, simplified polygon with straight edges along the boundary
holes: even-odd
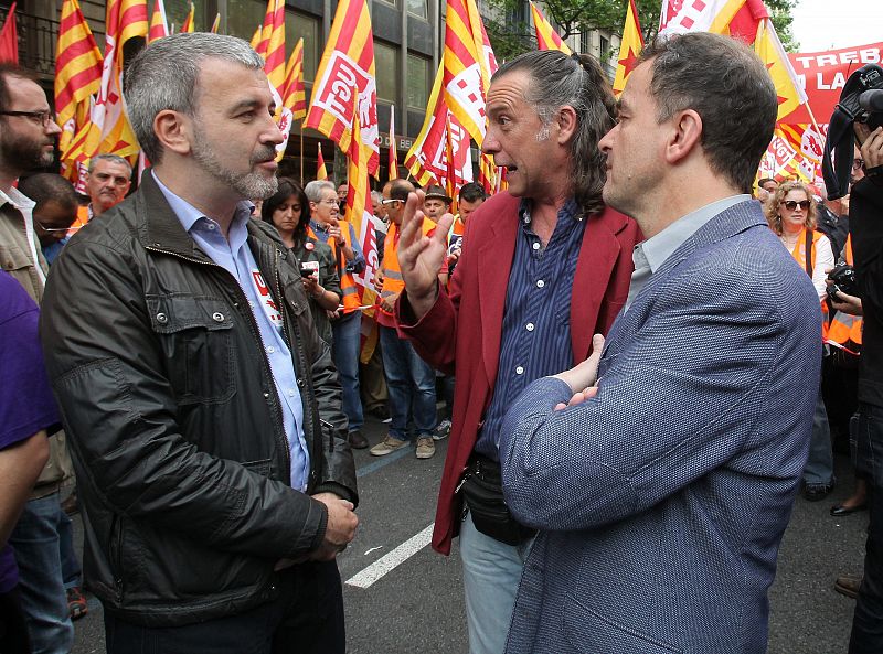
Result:
[[[342,654],[351,448],[448,437],[433,547],[459,538],[470,654],[765,651],[838,439],[858,482],[831,513],[871,510],[850,652],[883,650],[883,128],[857,128],[847,199],[753,193],[777,96],[737,42],[657,40],[618,101],[591,56],[520,55],[487,94],[508,190],[372,192],[365,307],[348,186],[277,176],[263,67],[216,34],[146,47],[125,96],[152,167],[130,193],[96,156],[83,199],[35,172],[60,128],[0,65],[0,651],[68,652],[85,587],[110,654]]]

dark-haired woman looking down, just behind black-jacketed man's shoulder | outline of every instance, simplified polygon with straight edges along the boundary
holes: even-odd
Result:
[[[301,267],[304,290],[312,303],[312,321],[322,340],[331,344],[331,323],[326,311],[333,311],[340,302],[338,279],[331,248],[311,238],[307,233],[310,224],[310,206],[304,190],[287,178],[279,178],[279,190],[264,201],[260,217],[276,227],[285,246],[298,258]],[[318,269],[305,275],[308,266],[318,262]]]

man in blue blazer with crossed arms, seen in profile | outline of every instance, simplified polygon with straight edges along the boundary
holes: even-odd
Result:
[[[812,285],[747,195],[776,92],[742,44],[684,34],[645,49],[620,112],[604,200],[648,240],[606,344],[501,430],[540,529],[507,652],[762,653],[821,363]]]

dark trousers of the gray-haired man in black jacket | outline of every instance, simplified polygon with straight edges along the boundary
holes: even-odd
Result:
[[[278,588],[272,602],[183,626],[141,626],[105,611],[107,654],[344,654],[337,562],[283,570]]]

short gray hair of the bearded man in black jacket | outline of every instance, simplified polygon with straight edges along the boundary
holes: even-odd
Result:
[[[162,160],[153,119],[167,109],[195,115],[200,66],[206,58],[225,60],[255,71],[264,68],[264,60],[247,42],[210,32],[166,36],[145,47],[129,64],[124,77],[129,121],[151,162]]]

